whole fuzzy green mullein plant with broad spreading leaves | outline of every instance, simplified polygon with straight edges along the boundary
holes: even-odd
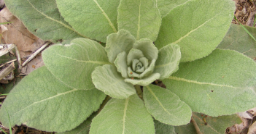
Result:
[[[63,42],[44,50],[45,66],[9,93],[3,125],[150,134],[159,123],[186,125],[193,112],[217,117],[255,106],[255,62],[216,49],[232,0],[5,2],[31,33]]]

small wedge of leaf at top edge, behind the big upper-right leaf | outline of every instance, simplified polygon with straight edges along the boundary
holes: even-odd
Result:
[[[165,17],[171,9],[186,4],[187,1],[190,0],[158,0],[158,9],[162,17]]]

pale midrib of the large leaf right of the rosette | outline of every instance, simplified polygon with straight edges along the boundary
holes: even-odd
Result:
[[[195,81],[195,80],[187,80],[185,78],[177,78],[177,77],[174,77],[174,76],[170,76],[168,79],[184,81],[184,82],[187,82],[187,83],[195,83],[195,84],[199,84],[199,85],[213,85],[213,86],[220,86],[220,87],[227,87],[227,88],[236,88],[236,87],[233,87],[233,86],[230,86],[230,85],[220,85],[220,84],[214,84],[214,83],[204,83],[204,82],[198,82],[198,81]],[[236,89],[240,89],[240,88],[236,88]]]

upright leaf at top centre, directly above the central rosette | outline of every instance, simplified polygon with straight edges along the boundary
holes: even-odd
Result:
[[[121,0],[117,10],[118,29],[128,30],[136,40],[156,40],[161,16],[155,0]]]

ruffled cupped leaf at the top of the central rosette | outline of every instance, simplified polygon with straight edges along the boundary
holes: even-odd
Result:
[[[133,47],[135,38],[127,30],[119,30],[117,33],[112,33],[106,39],[106,53],[109,57],[109,62],[114,62],[117,54],[125,51],[126,54]]]

